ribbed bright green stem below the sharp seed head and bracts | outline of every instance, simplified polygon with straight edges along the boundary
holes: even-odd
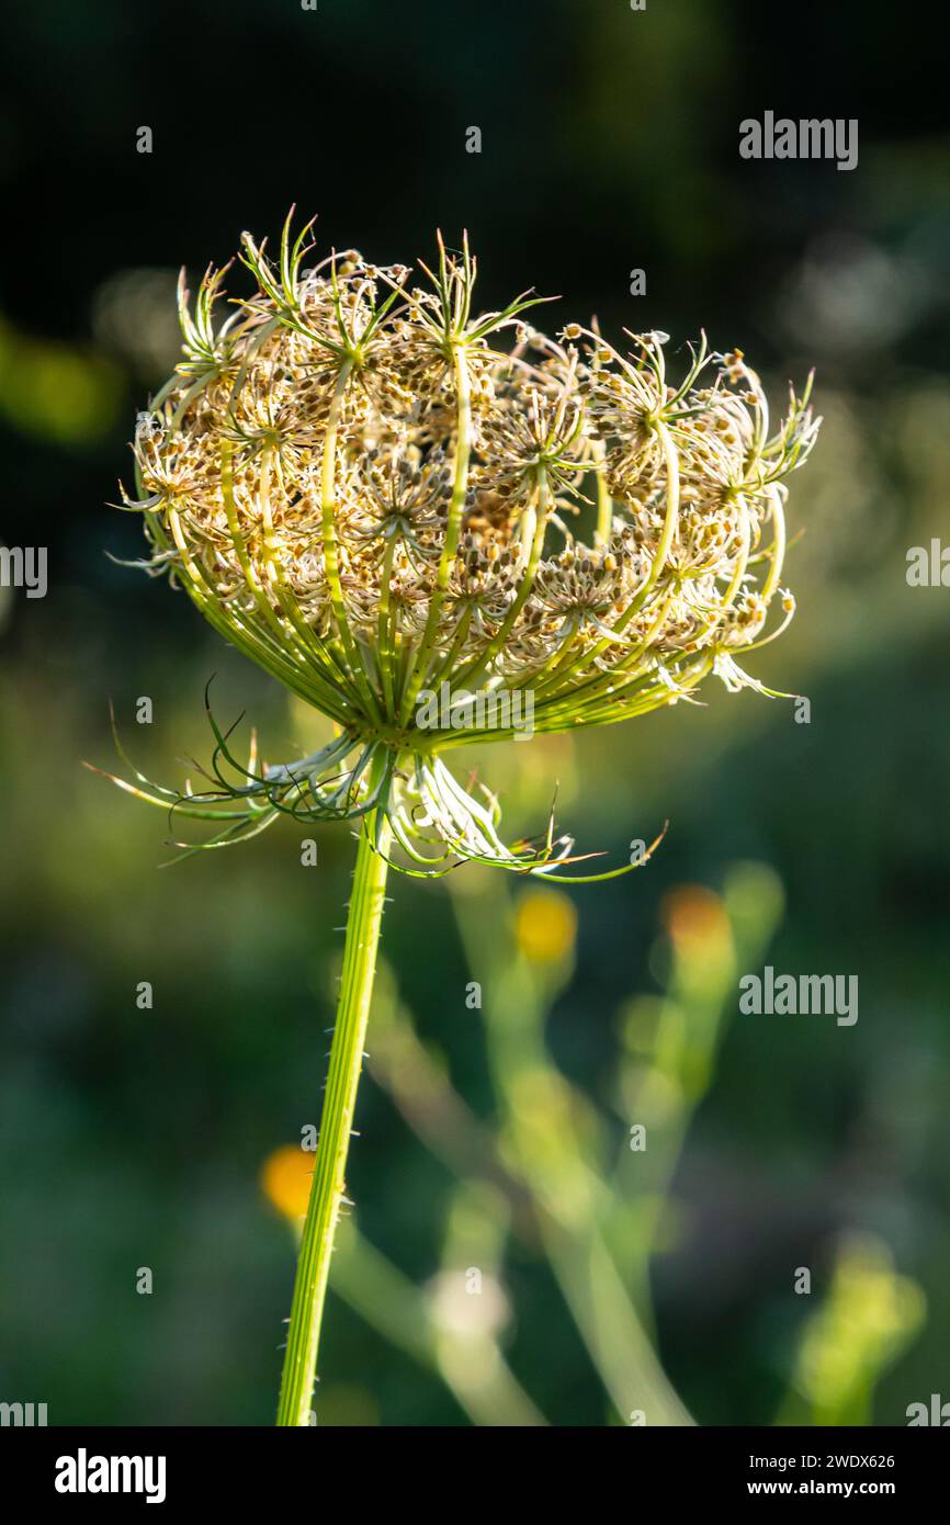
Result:
[[[381,827],[381,830],[378,830]],[[377,852],[374,842],[381,852]],[[346,917],[343,982],[329,1051],[329,1072],[320,1138],[300,1240],[300,1258],[287,1330],[278,1424],[307,1426],[317,1374],[317,1348],[329,1258],[345,1193],[346,1151],[366,1043],[366,1022],[377,968],[383,898],[386,895],[389,825],[367,816],[360,831],[357,866]]]

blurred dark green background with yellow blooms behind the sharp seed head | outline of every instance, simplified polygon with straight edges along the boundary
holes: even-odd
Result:
[[[50,586],[0,590],[0,1398],[274,1412],[278,1151],[317,1119],[352,842],[303,868],[288,824],[160,868],[163,817],[79,762],[116,766],[111,695],[178,782],[212,673],[268,758],[307,743],[183,595],[104,555],[142,554],[105,500],[175,361],[177,267],[194,285],[291,201],[380,261],[468,227],[483,305],[537,285],[549,326],[704,326],[776,406],[816,364],[826,419],[791,483],[799,613],[755,663],[811,723],[717,685],[496,749],[512,833],[557,779],[579,848],[622,862],[669,819],[662,849],[569,898],[393,881],[319,1423],[903,1424],[950,1398],[950,593],[904,578],[950,476],[938,50],[857,0],[38,0],[5,43],[0,538],[49,546]],[[857,117],[859,168],[740,160],[764,110]],[[857,1025],[740,1016],[764,962],[857,974]]]

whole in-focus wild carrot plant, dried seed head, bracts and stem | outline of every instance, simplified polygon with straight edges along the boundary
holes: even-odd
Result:
[[[221,323],[224,271],[194,310],[181,284],[185,358],[139,415],[124,493],[151,544],[139,564],[334,723],[311,756],[262,766],[210,717],[206,790],[127,787],[218,820],[203,846],[281,816],[358,824],[281,1424],[310,1414],[387,866],[578,862],[554,813],[506,843],[494,796],[448,766],[462,744],[522,735],[526,712],[538,734],[611,724],[711,674],[772,692],[740,659],[794,612],[787,477],[819,425],[808,384],[772,430],[743,354],[704,339],[671,381],[665,334],[625,352],[576,323],[549,339],[525,316],[531,293],[479,316],[467,241],[439,239],[421,278],[310,255],[290,217],[276,259],[246,233],[253,291]]]

